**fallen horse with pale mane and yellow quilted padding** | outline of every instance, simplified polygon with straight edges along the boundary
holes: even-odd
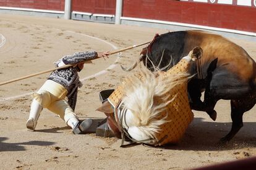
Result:
[[[177,143],[194,118],[187,97],[192,60],[202,56],[195,47],[169,71],[151,72],[140,65],[109,96],[102,97],[109,128],[117,137],[150,145]],[[105,91],[106,92],[106,91]],[[103,93],[104,94],[104,93]]]

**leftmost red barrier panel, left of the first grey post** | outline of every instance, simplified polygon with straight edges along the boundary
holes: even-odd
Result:
[[[0,6],[64,11],[65,0],[0,0]]]

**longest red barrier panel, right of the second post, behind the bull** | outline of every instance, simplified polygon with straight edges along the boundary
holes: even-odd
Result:
[[[170,0],[124,0],[122,16],[256,32],[256,7]]]

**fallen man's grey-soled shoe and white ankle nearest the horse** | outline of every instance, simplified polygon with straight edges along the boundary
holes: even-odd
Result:
[[[86,119],[82,121],[81,123],[77,118],[70,118],[67,121],[67,125],[72,127],[72,132],[74,134],[82,134],[83,132],[86,132],[87,129],[92,126],[93,120],[92,119]]]

